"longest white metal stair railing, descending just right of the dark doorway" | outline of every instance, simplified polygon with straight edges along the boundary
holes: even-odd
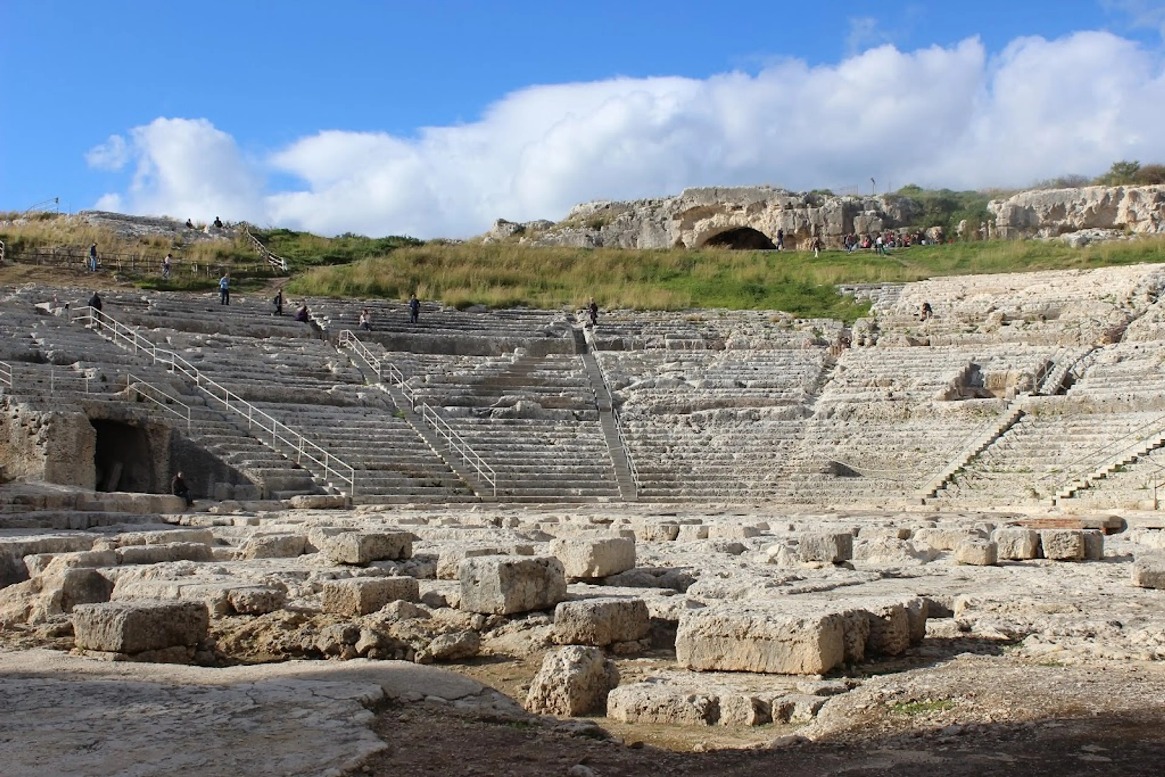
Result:
[[[285,453],[290,450],[295,454],[294,460],[296,464],[308,469],[311,467],[304,464],[305,460],[315,464],[322,469],[325,479],[336,479],[347,483],[348,494],[355,496],[354,467],[334,455],[331,451],[312,443],[274,416],[260,410],[218,381],[207,377],[197,367],[175,352],[158,348],[142,337],[137,330],[126,326],[111,318],[107,313],[93,310],[92,308],[85,308],[77,312],[72,320],[86,320],[86,326],[122,348],[148,355],[154,363],[161,363],[171,372],[181,373],[206,396],[221,404],[224,409],[246,418],[247,431],[254,433],[254,430],[257,429],[262,432],[262,435],[256,433],[255,439],[280,453]]]

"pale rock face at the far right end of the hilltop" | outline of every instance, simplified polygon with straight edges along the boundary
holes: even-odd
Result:
[[[1165,231],[1165,186],[1024,191],[987,209],[1000,238],[1054,238],[1081,229]]]

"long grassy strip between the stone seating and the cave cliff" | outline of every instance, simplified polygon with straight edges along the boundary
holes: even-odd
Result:
[[[636,310],[783,310],[852,322],[868,311],[839,283],[919,281],[941,275],[1094,268],[1165,261],[1165,240],[1083,249],[1043,241],[960,242],[871,252],[628,250],[532,248],[509,242],[402,247],[387,256],[308,270],[292,294],[425,299],[467,306],[582,306]]]

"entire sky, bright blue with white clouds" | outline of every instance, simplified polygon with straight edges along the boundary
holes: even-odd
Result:
[[[0,28],[0,210],[464,236],[687,185],[1165,161],[1165,1],[10,0]]]

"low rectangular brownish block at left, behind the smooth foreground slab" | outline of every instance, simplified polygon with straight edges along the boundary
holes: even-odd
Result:
[[[190,601],[116,601],[78,605],[72,623],[83,650],[140,654],[198,644],[206,638],[210,613]]]

